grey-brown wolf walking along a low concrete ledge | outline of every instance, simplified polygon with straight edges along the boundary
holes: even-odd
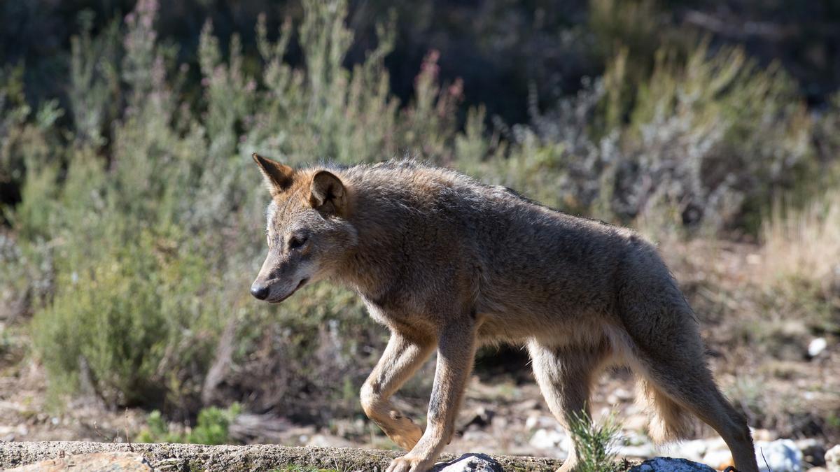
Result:
[[[738,470],[758,472],[747,422],[706,366],[694,313],[637,233],[412,160],[301,169],[254,160],[271,200],[251,294],[279,303],[328,279],[391,331],[360,392],[365,414],[408,451],[388,472],[433,466],[475,349],[499,343],[527,347],[561,424],[588,420],[596,376],[627,365],[653,438],[684,438],[693,414],[722,436]],[[436,349],[424,430],[389,399]],[[575,470],[577,455],[559,471]]]

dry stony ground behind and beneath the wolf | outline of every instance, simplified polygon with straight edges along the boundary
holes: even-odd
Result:
[[[675,254],[669,258],[669,265],[675,267],[701,317],[711,368],[722,390],[756,427],[753,434],[759,454],[764,453],[768,463],[772,462],[770,469],[783,472],[825,467],[826,451],[840,443],[837,333],[815,335],[804,330],[797,317],[761,317],[764,308],[756,305],[756,296],[739,292],[741,287],[747,290],[749,280],[760,269],[762,256],[754,247],[687,245],[664,254]],[[711,291],[709,287],[714,286],[734,288]],[[722,308],[713,309],[717,305]],[[729,314],[713,314],[718,312]],[[738,333],[767,329],[768,323],[776,324],[759,350],[756,344],[739,341]],[[111,411],[85,398],[61,404],[60,408],[50,407],[43,370],[25,354],[26,336],[18,336],[13,328],[3,328],[0,440],[114,443],[137,438],[144,429],[148,412]],[[565,457],[570,439],[548,412],[527,362],[516,350],[480,359],[459,416],[458,433],[445,452]],[[433,364],[418,375],[427,380],[432,376]],[[400,396],[395,402],[422,422],[428,385],[420,385],[413,389],[414,395]],[[697,427],[694,441],[665,448],[654,446],[644,433],[647,416],[634,403],[633,375],[627,370],[603,375],[593,406],[596,417],[614,415],[622,422],[617,443],[621,457],[671,455],[720,469],[731,460],[722,441],[707,427]],[[231,437],[242,443],[394,448],[361,416],[336,418],[326,426],[315,427],[293,424],[282,416],[246,412],[234,422]]]

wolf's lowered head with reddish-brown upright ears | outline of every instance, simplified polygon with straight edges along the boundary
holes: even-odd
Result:
[[[356,244],[347,218],[350,189],[328,170],[295,170],[254,155],[271,194],[268,256],[251,294],[279,303],[307,283],[333,274]]]

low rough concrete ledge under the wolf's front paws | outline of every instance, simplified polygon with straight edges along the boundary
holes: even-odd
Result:
[[[10,469],[45,459],[74,454],[134,452],[142,454],[155,470],[245,470],[283,469],[290,465],[342,471],[385,470],[398,451],[356,448],[288,448],[274,444],[205,446],[202,444],[83,443],[71,441],[0,443],[0,469]],[[457,456],[444,454],[439,461]],[[554,472],[561,461],[533,457],[493,456],[509,472]]]

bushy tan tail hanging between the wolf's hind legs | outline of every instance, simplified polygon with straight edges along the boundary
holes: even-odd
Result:
[[[655,443],[667,443],[693,435],[694,417],[677,402],[659,390],[651,380],[639,375],[636,401],[648,412],[648,433]]]

